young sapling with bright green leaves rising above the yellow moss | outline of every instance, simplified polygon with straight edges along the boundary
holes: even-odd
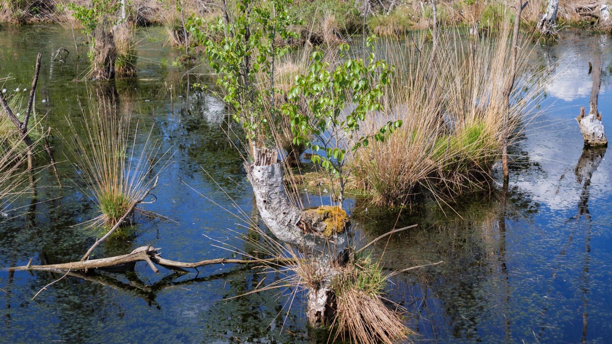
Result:
[[[376,60],[374,40],[375,37],[367,39],[370,50],[367,61],[348,58],[348,45],[340,45],[340,59],[345,62],[335,69],[324,61],[323,52],[315,51],[310,73],[296,78],[288,94],[289,103],[283,106],[291,119],[294,143],[305,143],[315,153],[311,156],[312,162],[320,164],[331,179],[338,180],[340,203],[348,174],[345,171],[347,153],[355,154],[366,148],[370,140],[384,141],[401,126],[401,120],[396,120],[387,121],[373,133],[360,129],[367,122],[368,114],[382,110],[384,86],[394,72],[394,66]],[[291,103],[300,97],[305,100],[309,114]]]

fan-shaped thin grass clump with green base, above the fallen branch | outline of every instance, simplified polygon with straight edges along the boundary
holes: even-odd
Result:
[[[76,123],[83,123],[77,127]],[[139,125],[131,116],[121,116],[114,105],[89,99],[89,112],[78,121],[69,119],[73,154],[69,156],[83,177],[88,196],[97,204],[100,215],[93,225],[109,228],[143,200],[151,190],[167,162],[168,151],[162,152],[152,138],[152,129],[139,140]],[[73,142],[73,143],[71,143]]]

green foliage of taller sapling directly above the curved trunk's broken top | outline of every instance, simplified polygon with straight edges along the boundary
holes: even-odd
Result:
[[[240,0],[233,12],[225,15],[209,31],[203,18],[192,17],[188,30],[206,51],[209,65],[218,74],[217,85],[223,100],[234,110],[234,119],[245,129],[249,140],[271,135],[266,111],[275,109],[274,94],[278,91],[258,84],[258,75],[273,80],[275,59],[284,56],[289,47],[286,40],[297,37],[290,30],[301,23],[289,15],[293,0]],[[222,37],[214,39],[212,37]],[[272,109],[272,110],[270,110]]]

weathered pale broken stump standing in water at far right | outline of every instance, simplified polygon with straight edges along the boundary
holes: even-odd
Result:
[[[603,129],[602,114],[597,111],[597,99],[602,85],[602,61],[595,59],[593,64],[593,86],[591,88],[591,102],[589,114],[586,115],[584,107],[580,108],[580,115],[576,118],[582,132],[584,144],[587,146],[607,146],[605,130]]]

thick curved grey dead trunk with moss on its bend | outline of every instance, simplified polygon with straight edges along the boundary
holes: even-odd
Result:
[[[334,219],[334,216],[337,217],[334,212],[297,209],[285,192],[283,169],[277,162],[277,152],[266,148],[255,149],[253,157],[255,162],[247,165],[246,170],[261,219],[278,239],[295,245],[308,256],[311,261],[309,268],[320,277],[318,283],[308,289],[308,321],[315,327],[329,324],[334,309],[331,282],[338,274],[337,262],[341,259],[338,257],[348,247],[346,238],[334,233],[343,228],[329,226],[334,222],[345,226],[347,221]],[[344,216],[346,219],[346,213]]]

